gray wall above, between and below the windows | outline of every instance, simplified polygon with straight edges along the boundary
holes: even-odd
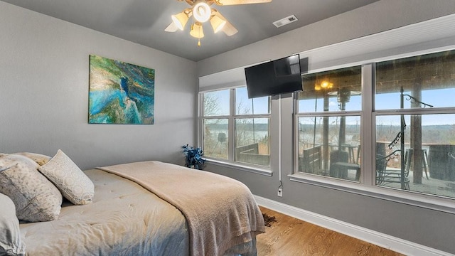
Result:
[[[201,60],[198,62],[198,75],[201,77],[263,60],[282,58],[291,53],[299,53],[453,13],[455,13],[455,1],[451,0],[378,1],[289,33]],[[217,82],[220,83],[220,81]],[[283,101],[283,108],[291,112],[289,106],[292,102],[289,101],[291,98]],[[285,124],[282,127],[283,131],[291,130],[290,114],[282,117],[282,124]],[[244,182],[257,196],[455,254],[454,214],[289,181],[287,175],[291,174],[293,153],[292,137],[287,134],[282,137],[282,181],[284,183],[282,198],[277,196],[279,176],[276,169],[273,170],[272,177],[213,164],[208,164],[206,169]]]

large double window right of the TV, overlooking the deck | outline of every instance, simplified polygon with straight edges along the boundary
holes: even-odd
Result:
[[[364,67],[303,76],[294,174],[455,198],[455,50]]]

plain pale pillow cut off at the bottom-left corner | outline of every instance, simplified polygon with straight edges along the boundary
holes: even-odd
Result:
[[[13,201],[0,193],[0,206],[0,255],[25,255]]]

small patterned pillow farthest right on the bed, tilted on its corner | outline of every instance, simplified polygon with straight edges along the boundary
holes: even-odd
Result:
[[[84,205],[92,202],[95,194],[93,182],[60,149],[47,164],[40,166],[38,170],[52,181],[71,203]]]

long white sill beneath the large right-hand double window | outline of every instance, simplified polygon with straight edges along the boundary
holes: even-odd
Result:
[[[353,181],[341,181],[335,178],[319,177],[310,174],[290,174],[288,177],[290,181],[455,214],[455,201],[451,198],[430,196],[414,191],[382,188],[380,186],[368,186],[366,184],[355,183]]]

